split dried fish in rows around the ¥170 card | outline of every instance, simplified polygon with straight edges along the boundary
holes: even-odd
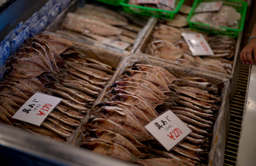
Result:
[[[69,40],[39,35],[6,60],[9,70],[0,82],[2,122],[65,142],[114,73],[112,67],[86,57],[72,46]],[[35,92],[63,99],[41,127],[12,118]]]

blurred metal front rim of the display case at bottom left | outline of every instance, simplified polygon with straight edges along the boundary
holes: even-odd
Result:
[[[0,125],[0,146],[31,156],[38,160],[47,160],[55,165],[72,166],[131,166],[112,157],[106,157],[92,151],[66,145],[55,140],[36,136],[24,130]]]

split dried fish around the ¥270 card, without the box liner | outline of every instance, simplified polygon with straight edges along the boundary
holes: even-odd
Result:
[[[196,77],[178,79],[159,66],[134,64],[92,107],[80,146],[144,166],[204,165],[219,110],[215,85]],[[166,152],[145,125],[171,109],[193,131]]]

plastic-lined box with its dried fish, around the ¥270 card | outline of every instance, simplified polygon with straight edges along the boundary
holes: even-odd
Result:
[[[161,161],[164,165],[223,163],[224,137],[229,120],[226,119],[229,116],[228,79],[148,59],[145,56],[126,57],[117,70],[113,76],[115,79],[109,82],[86,115],[79,129],[81,135],[76,135],[76,140],[72,144],[144,165],[151,160],[156,162],[155,164]],[[179,80],[185,83],[181,85]],[[204,80],[208,83],[201,82]],[[194,81],[197,84],[194,84]],[[198,81],[208,85],[198,87]],[[174,85],[173,88],[170,87],[171,84]],[[210,92],[207,96],[213,98],[209,96],[211,99],[203,99],[200,95],[197,96],[199,98],[192,97],[193,93],[183,92],[182,89],[188,88],[185,86],[190,86],[191,90],[199,90],[202,94]],[[174,90],[175,87],[177,91]],[[195,104],[192,100],[201,102]],[[178,101],[183,103],[180,104]],[[158,142],[143,129],[145,124],[165,109],[173,110],[193,130],[192,134],[171,152],[161,149]],[[216,153],[216,148],[222,155]],[[141,157],[143,159],[140,159]]]

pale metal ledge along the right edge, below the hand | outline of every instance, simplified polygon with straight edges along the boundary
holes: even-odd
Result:
[[[256,165],[256,66],[250,68],[236,166]]]

